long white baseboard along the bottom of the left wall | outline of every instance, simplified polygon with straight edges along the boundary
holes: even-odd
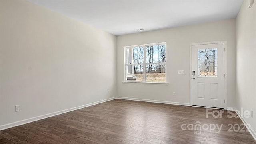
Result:
[[[86,104],[86,105],[81,105],[81,106],[73,107],[73,108],[70,108],[70,109],[65,109],[65,110],[62,110],[62,111],[56,111],[56,112],[53,112],[53,113],[40,115],[40,116],[37,116],[37,117],[32,117],[32,118],[29,118],[29,119],[24,119],[24,120],[21,120],[21,121],[16,121],[16,122],[13,122],[13,123],[8,123],[6,125],[0,125],[0,131],[5,130],[7,128],[12,128],[14,126],[24,125],[26,123],[31,123],[33,121],[38,121],[40,119],[45,119],[45,118],[52,117],[52,116],[55,116],[55,115],[60,115],[62,113],[67,113],[67,112],[74,111],[74,110],[77,110],[77,109],[82,109],[84,107],[89,107],[89,106],[96,105],[96,104],[99,104],[99,103],[104,103],[106,101],[111,101],[113,99],[116,99],[116,97],[112,97],[112,98],[109,98],[109,99],[104,99],[104,100],[101,100],[101,101],[96,101],[94,103],[89,103],[89,104]]]

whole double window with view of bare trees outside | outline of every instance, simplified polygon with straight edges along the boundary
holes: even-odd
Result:
[[[166,82],[166,43],[125,47],[126,82]]]

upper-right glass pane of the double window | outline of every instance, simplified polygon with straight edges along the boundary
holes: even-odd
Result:
[[[146,46],[146,63],[166,62],[166,45]]]

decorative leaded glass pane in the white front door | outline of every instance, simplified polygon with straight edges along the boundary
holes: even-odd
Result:
[[[198,50],[198,76],[217,76],[217,49]]]

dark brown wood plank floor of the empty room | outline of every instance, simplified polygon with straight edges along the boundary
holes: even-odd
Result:
[[[0,143],[256,143],[249,132],[228,132],[228,124],[241,125],[242,121],[239,118],[228,118],[227,115],[230,114],[225,111],[222,118],[214,118],[212,115],[206,118],[204,108],[115,99],[2,130]],[[197,121],[201,126],[205,124],[204,129],[182,130],[182,124],[195,125]],[[210,124],[223,124],[220,133],[215,133],[217,128],[211,132],[206,130]]]

